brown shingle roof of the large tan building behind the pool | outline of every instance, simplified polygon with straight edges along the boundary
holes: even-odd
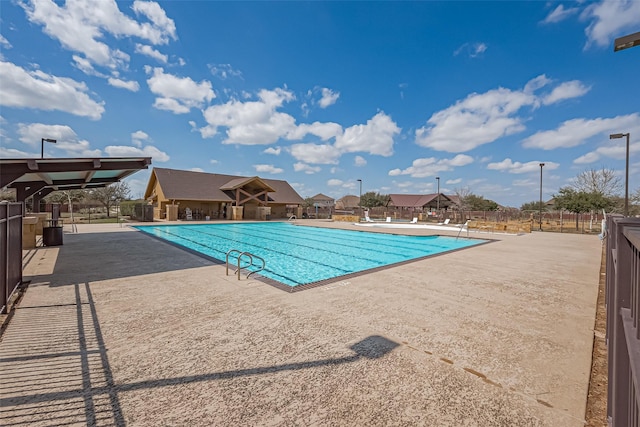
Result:
[[[145,198],[150,196],[154,176],[167,199],[221,202],[233,201],[232,195],[227,194],[223,188],[234,188],[234,185],[239,182],[250,182],[257,178],[154,168],[151,179],[149,180],[149,185],[147,186]],[[300,197],[287,181],[264,178],[258,179],[273,189],[273,192],[269,193],[269,199],[272,202],[286,204],[302,204],[304,202],[302,197]]]

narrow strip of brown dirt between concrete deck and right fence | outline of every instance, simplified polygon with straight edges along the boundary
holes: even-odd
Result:
[[[591,378],[587,396],[586,421],[589,427],[607,427],[607,347],[605,333],[607,311],[605,309],[605,273],[606,250],[602,250],[602,266],[600,268],[600,285],[598,287],[598,305],[593,337],[593,358],[591,361]]]

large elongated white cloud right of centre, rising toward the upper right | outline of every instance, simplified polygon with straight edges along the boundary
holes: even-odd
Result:
[[[531,79],[522,90],[505,88],[473,93],[451,107],[436,112],[427,126],[416,130],[416,143],[420,146],[450,153],[462,153],[491,143],[498,138],[525,130],[526,117],[518,113],[546,103],[583,95],[589,89],[579,81],[561,83],[550,94],[537,96],[536,91],[549,85],[545,75]]]

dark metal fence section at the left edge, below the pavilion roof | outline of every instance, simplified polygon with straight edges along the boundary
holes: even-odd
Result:
[[[0,313],[22,283],[22,203],[0,202]]]

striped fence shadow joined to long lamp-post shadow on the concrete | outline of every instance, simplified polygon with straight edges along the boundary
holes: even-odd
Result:
[[[3,342],[0,424],[96,425],[108,420],[124,426],[121,392],[336,366],[382,358],[399,346],[373,335],[350,346],[352,355],[339,358],[116,385],[89,283],[73,286],[73,304],[17,309],[27,326]]]

